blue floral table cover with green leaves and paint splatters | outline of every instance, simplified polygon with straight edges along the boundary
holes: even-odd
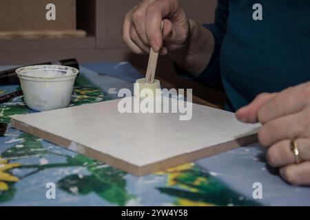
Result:
[[[84,63],[71,105],[115,98],[139,77],[129,63]],[[0,96],[17,89],[0,86]],[[32,113],[22,97],[0,104],[0,122],[19,113]],[[0,137],[0,206],[310,206],[310,188],[282,181],[264,151],[251,144],[135,177],[9,127]],[[256,184],[262,199],[253,197]]]

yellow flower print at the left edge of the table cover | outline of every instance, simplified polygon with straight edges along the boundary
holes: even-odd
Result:
[[[6,159],[2,159],[0,157],[0,190],[8,190],[8,184],[6,182],[17,182],[19,178],[10,175],[9,173],[5,173],[4,171],[10,170],[12,168],[21,166],[21,164],[8,164]]]

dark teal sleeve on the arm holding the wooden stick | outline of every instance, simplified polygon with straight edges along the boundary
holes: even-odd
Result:
[[[174,63],[178,75],[189,80],[195,80],[214,89],[222,89],[222,83],[220,81],[220,48],[222,47],[226,34],[228,14],[229,0],[218,0],[214,23],[203,25],[204,28],[207,28],[214,35],[215,39],[214,52],[205,70],[197,77],[190,77],[189,72],[186,72]]]

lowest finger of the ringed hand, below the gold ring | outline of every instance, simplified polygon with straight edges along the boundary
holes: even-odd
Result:
[[[310,162],[292,164],[280,168],[280,175],[289,184],[305,186],[310,185]]]

